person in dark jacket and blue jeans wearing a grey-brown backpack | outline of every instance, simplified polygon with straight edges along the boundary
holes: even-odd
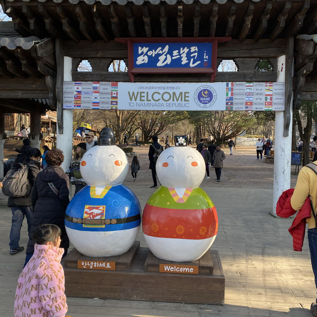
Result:
[[[28,193],[23,197],[9,197],[8,207],[11,207],[12,211],[12,224],[10,230],[10,254],[14,255],[24,250],[24,247],[19,246],[20,230],[22,227],[23,219],[26,217],[28,224],[28,235],[31,237],[31,223],[33,218],[33,205],[31,201],[31,192],[35,183],[35,179],[40,172],[41,152],[39,149],[31,148],[28,150],[28,154],[19,154],[14,164],[22,163],[28,167],[28,182],[30,188]],[[16,166],[16,165],[15,165]],[[13,165],[14,167],[14,165]]]

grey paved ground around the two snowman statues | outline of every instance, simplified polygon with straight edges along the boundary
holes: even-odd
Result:
[[[142,208],[154,191],[148,169],[148,147],[135,148],[141,170],[137,181],[128,174],[124,184],[140,200]],[[219,229],[212,249],[218,250],[225,275],[225,305],[199,305],[142,301],[67,298],[73,317],[309,317],[316,298],[307,238],[303,252],[295,252],[287,229],[292,219],[269,215],[272,206],[273,164],[256,160],[253,147],[237,147],[226,159],[221,182],[204,180],[202,188],[213,200]],[[131,161],[132,158],[129,158]],[[295,169],[292,166],[292,170]],[[292,186],[296,176],[292,176]],[[25,254],[8,254],[10,210],[0,196],[0,317],[13,316],[16,281]],[[138,236],[146,246],[142,231]],[[26,246],[26,222],[20,245]]]

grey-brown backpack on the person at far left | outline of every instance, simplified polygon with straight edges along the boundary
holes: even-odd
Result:
[[[9,169],[2,181],[2,193],[5,196],[16,198],[30,194],[31,186],[28,180],[29,168],[17,163]]]

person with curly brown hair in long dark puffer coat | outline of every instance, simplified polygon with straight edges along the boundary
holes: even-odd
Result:
[[[48,151],[46,162],[48,166],[36,178],[32,190],[32,206],[34,206],[31,234],[36,228],[45,223],[55,224],[61,230],[60,247],[67,254],[69,240],[65,229],[64,217],[69,203],[69,178],[60,167],[64,160],[63,152],[59,149]],[[26,249],[24,266],[29,262],[34,252],[34,241],[29,239]]]

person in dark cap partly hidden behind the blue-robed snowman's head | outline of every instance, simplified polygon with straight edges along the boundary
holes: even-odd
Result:
[[[75,185],[75,194],[77,194],[77,192],[79,192],[82,188],[84,188],[87,185],[80,173],[80,162],[85,153],[86,143],[78,143],[73,159],[66,171],[66,174],[69,177],[70,184]]]

